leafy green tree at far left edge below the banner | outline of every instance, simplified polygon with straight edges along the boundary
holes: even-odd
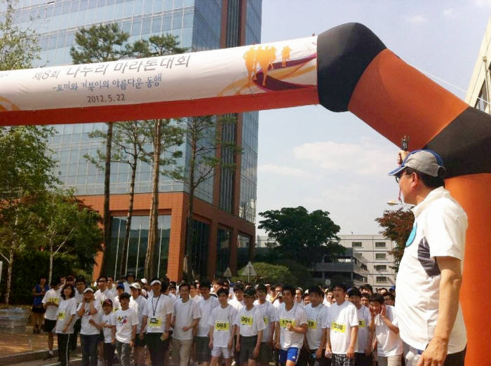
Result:
[[[15,257],[32,244],[36,196],[59,183],[48,149],[52,134],[53,129],[47,127],[0,128],[0,255],[7,263],[7,304]]]

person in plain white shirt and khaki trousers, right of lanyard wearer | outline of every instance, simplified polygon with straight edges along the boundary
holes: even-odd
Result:
[[[196,301],[189,298],[189,284],[179,287],[180,299],[174,303],[173,320],[170,325],[173,333],[173,356],[175,365],[187,366],[193,345],[193,328],[199,323],[201,313]]]

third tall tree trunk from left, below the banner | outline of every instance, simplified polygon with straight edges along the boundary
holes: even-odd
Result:
[[[155,124],[154,140],[154,179],[152,182],[152,206],[150,208],[150,225],[147,243],[147,257],[145,257],[145,276],[152,279],[155,276],[155,244],[159,234],[159,176],[160,155],[162,143],[162,120]]]

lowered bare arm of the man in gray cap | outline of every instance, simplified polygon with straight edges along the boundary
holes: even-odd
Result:
[[[435,334],[426,347],[418,365],[424,362],[443,364],[447,357],[450,332],[457,318],[459,310],[459,294],[462,285],[462,271],[460,259],[454,257],[436,257],[440,268],[440,298],[438,301],[438,319],[436,320]],[[440,362],[440,363],[438,363]]]

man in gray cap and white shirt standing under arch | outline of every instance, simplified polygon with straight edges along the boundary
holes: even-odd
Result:
[[[467,216],[445,189],[443,161],[431,150],[400,151],[396,177],[415,224],[396,279],[396,313],[406,365],[464,365],[459,306]]]

